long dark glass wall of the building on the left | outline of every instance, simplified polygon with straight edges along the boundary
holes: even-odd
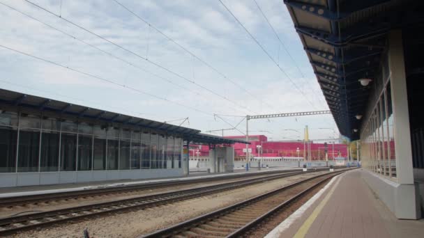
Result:
[[[181,168],[182,139],[0,111],[0,173]]]

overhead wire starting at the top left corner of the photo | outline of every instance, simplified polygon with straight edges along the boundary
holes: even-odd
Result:
[[[174,81],[172,81],[172,80],[170,80],[170,79],[167,79],[167,78],[165,78],[165,77],[160,76],[159,74],[156,74],[156,73],[154,73],[154,72],[151,72],[151,71],[149,71],[149,70],[146,70],[146,69],[144,69],[144,68],[140,67],[139,65],[135,65],[135,63],[131,63],[130,61],[126,61],[125,59],[123,59],[123,58],[121,58],[121,57],[119,57],[119,56],[116,56],[116,55],[114,55],[114,54],[110,53],[109,51],[105,51],[105,50],[103,50],[103,49],[100,49],[99,47],[96,47],[95,45],[92,45],[92,44],[90,44],[89,42],[86,42],[85,40],[81,40],[80,38],[77,38],[75,35],[72,35],[72,34],[70,34],[70,33],[67,33],[66,31],[63,31],[63,30],[58,29],[58,28],[56,28],[56,27],[54,27],[54,26],[52,26],[52,25],[50,25],[50,24],[47,24],[47,23],[45,23],[45,22],[41,21],[40,19],[37,19],[36,17],[32,17],[31,15],[28,15],[27,13],[23,13],[22,11],[17,10],[16,8],[13,8],[12,6],[8,6],[6,3],[2,3],[2,2],[0,2],[0,4],[1,4],[1,5],[3,5],[3,6],[6,6],[7,8],[10,8],[11,10],[15,10],[17,13],[20,13],[20,14],[22,14],[22,15],[26,16],[26,17],[29,17],[29,19],[33,19],[34,21],[39,22],[40,24],[43,24],[43,25],[45,25],[45,26],[47,26],[47,27],[49,27],[49,28],[51,28],[51,29],[54,29],[55,31],[59,31],[59,32],[60,32],[60,33],[62,33],[63,35],[67,35],[68,37],[73,38],[74,40],[78,40],[79,42],[82,42],[84,45],[88,45],[89,47],[92,47],[93,49],[96,49],[96,50],[98,50],[98,51],[101,51],[101,52],[103,52],[104,54],[107,54],[107,56],[110,56],[110,57],[112,57],[112,58],[115,58],[116,60],[119,60],[119,61],[121,61],[121,62],[123,62],[123,63],[126,63],[126,64],[128,64],[128,65],[132,66],[133,68],[137,68],[138,70],[142,70],[142,72],[146,72],[146,73],[148,73],[148,74],[151,74],[151,75],[153,75],[154,77],[158,77],[159,79],[162,79],[163,81],[166,81],[166,82],[167,82],[167,83],[169,83],[169,84],[172,84],[172,85],[174,85],[174,86],[176,86],[176,87],[178,87],[178,88],[181,88],[181,89],[183,89],[183,90],[187,90],[187,91],[188,91],[188,92],[190,92],[190,93],[193,93],[193,94],[195,94],[195,95],[197,95],[197,96],[199,96],[199,97],[202,97],[202,98],[204,98],[204,99],[208,100],[208,98],[207,98],[207,97],[205,97],[204,95],[202,95],[202,94],[200,94],[200,93],[197,93],[195,90],[192,90],[192,89],[190,89],[190,88],[186,88],[185,86],[182,86],[182,85],[179,85],[179,84],[176,84],[176,83],[174,83]],[[234,108],[233,108],[233,109],[234,109]]]

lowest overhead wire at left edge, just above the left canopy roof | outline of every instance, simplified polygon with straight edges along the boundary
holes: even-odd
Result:
[[[26,53],[26,52],[24,52],[24,51],[20,51],[20,50],[17,50],[17,49],[13,49],[13,48],[10,48],[10,47],[6,47],[6,46],[4,46],[4,45],[0,45],[0,47],[1,47],[1,48],[3,48],[3,49],[8,49],[8,50],[10,50],[10,51],[14,51],[14,52],[19,53],[19,54],[23,54],[23,55],[25,55],[25,56],[29,56],[29,57],[31,57],[31,58],[36,58],[36,59],[38,59],[39,61],[44,61],[45,63],[50,63],[50,64],[52,64],[52,65],[56,65],[56,66],[58,66],[58,67],[60,67],[60,68],[65,68],[66,70],[70,70],[70,71],[73,71],[73,72],[77,72],[77,73],[79,73],[79,74],[84,74],[84,75],[86,75],[86,76],[88,76],[88,77],[91,77],[91,78],[94,78],[94,79],[98,79],[98,80],[100,80],[100,81],[105,81],[105,82],[107,82],[107,83],[109,83],[109,84],[114,84],[114,85],[116,85],[116,86],[120,86],[120,87],[122,87],[122,88],[128,88],[129,90],[135,91],[135,92],[137,92],[137,93],[141,93],[141,94],[144,94],[144,95],[148,95],[148,96],[150,96],[150,97],[155,97],[155,98],[156,98],[156,99],[158,99],[158,100],[162,100],[162,101],[165,101],[165,102],[171,102],[172,104],[176,104],[176,105],[178,105],[178,106],[185,107],[186,109],[190,109],[190,110],[193,110],[193,111],[197,111],[197,112],[199,112],[199,113],[204,113],[204,114],[206,114],[206,115],[210,115],[210,116],[213,116],[213,115],[214,115],[213,113],[209,113],[209,112],[207,112],[207,111],[202,111],[202,110],[200,110],[200,109],[196,109],[196,108],[194,108],[194,107],[192,107],[192,106],[187,106],[187,105],[185,105],[185,104],[181,104],[181,103],[179,103],[179,102],[175,102],[175,101],[172,101],[172,100],[168,100],[168,99],[167,99],[167,98],[165,98],[165,97],[160,97],[160,96],[158,96],[158,95],[154,95],[154,94],[152,94],[152,93],[148,93],[148,92],[146,92],[146,91],[139,90],[139,89],[137,89],[137,88],[132,88],[132,87],[130,87],[130,86],[126,86],[126,85],[124,85],[124,84],[120,84],[120,83],[118,83],[117,81],[114,81],[114,80],[111,80],[111,79],[105,79],[105,78],[103,78],[103,77],[99,77],[99,76],[97,76],[97,75],[95,75],[95,74],[90,74],[90,73],[87,73],[87,72],[84,72],[84,71],[81,71],[81,70],[77,70],[77,69],[74,69],[74,68],[70,68],[69,66],[61,65],[60,63],[56,63],[56,62],[54,62],[54,61],[50,61],[50,60],[47,60],[47,59],[45,59],[45,58],[41,58],[41,57],[38,57],[38,56],[34,56],[34,55],[29,54],[29,53]]]

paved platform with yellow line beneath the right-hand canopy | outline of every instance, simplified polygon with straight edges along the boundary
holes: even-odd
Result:
[[[363,180],[362,169],[334,177],[266,237],[423,237],[424,219],[399,220]]]

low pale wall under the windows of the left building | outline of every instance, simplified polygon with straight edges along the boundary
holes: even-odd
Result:
[[[0,187],[45,184],[69,184],[107,180],[140,180],[158,177],[179,177],[183,169],[99,170],[43,173],[0,173]]]

